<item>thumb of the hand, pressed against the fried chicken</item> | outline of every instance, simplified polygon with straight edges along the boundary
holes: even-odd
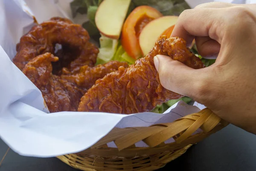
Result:
[[[156,55],[154,64],[164,88],[194,100],[207,91],[207,68],[195,70],[165,55]]]

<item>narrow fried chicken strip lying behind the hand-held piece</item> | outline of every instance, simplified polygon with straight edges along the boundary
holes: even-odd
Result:
[[[109,61],[106,64],[97,65],[95,67],[89,67],[85,65],[80,67],[80,70],[76,73],[64,70],[61,78],[66,79],[69,82],[75,83],[80,88],[84,90],[90,89],[96,80],[103,78],[108,73],[118,70],[119,67],[128,67],[125,62],[119,61]]]

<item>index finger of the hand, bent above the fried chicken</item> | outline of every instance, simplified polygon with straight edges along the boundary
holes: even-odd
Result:
[[[222,30],[219,25],[223,22],[225,8],[198,8],[184,10],[175,24],[172,37],[180,37],[186,40],[189,46],[195,36],[209,36],[221,42]],[[221,44],[221,43],[220,43]]]

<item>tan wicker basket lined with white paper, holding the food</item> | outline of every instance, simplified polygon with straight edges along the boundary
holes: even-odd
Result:
[[[172,123],[114,128],[89,149],[58,156],[58,159],[83,171],[154,171],[185,153],[192,144],[227,125],[227,122],[206,108]],[[203,131],[193,134],[198,128]],[[175,142],[164,143],[170,138],[174,138]],[[134,145],[141,140],[149,147]],[[112,141],[117,148],[107,146]]]

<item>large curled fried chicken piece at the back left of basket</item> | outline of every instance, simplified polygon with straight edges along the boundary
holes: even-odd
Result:
[[[90,43],[89,39],[88,32],[81,25],[73,24],[68,19],[54,17],[33,26],[26,35],[20,38],[13,62],[22,70],[36,56],[46,52],[54,54],[55,44],[59,43],[68,46],[70,52],[78,52],[78,54],[74,54],[76,55],[73,57],[74,61],[71,63],[67,61],[70,69],[83,65],[93,66],[96,63],[99,49]]]

